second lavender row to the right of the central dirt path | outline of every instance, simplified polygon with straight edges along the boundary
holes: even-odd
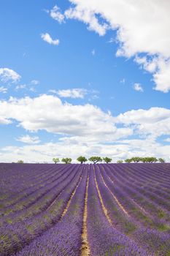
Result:
[[[123,206],[126,206],[125,209],[128,209],[127,214],[125,213],[123,214],[123,210],[121,214],[121,211],[118,211],[118,209],[113,208],[112,206],[114,206],[114,202],[112,198],[109,196],[109,193],[104,191],[104,184],[102,188],[102,179],[100,179],[100,175],[102,173],[102,176],[104,176],[104,172],[102,171],[101,168],[99,169],[100,169],[100,173],[96,172],[96,178],[98,176],[97,178],[98,187],[101,187],[101,195],[103,195],[104,203],[107,206],[107,209],[109,210],[108,211],[109,217],[110,219],[112,219],[112,222],[114,223],[114,225],[116,222],[117,224],[116,227],[119,230],[123,231],[123,233],[133,238],[133,240],[136,241],[136,244],[139,244],[139,246],[143,246],[143,248],[147,250],[147,252],[150,252],[151,254],[154,254],[154,255],[166,255],[169,252],[169,248],[170,248],[169,233],[162,233],[162,232],[159,232],[158,230],[155,230],[154,227],[158,227],[158,225],[160,225],[161,227],[161,223],[155,223],[153,219],[149,219],[147,216],[145,216],[144,218],[144,220],[149,221],[146,227],[136,222],[136,219],[131,217],[131,211],[137,210],[136,212],[138,212],[138,209],[134,208],[134,206],[131,206],[131,201],[128,199],[128,196],[125,197],[127,204],[126,205],[125,203],[123,204]],[[106,182],[106,184],[110,189],[112,189],[112,187],[115,186],[106,177],[104,177],[104,182]],[[123,194],[120,194],[119,196],[117,196],[117,200],[120,200],[120,198],[122,199],[122,197],[123,197]],[[117,208],[120,208],[120,207],[117,206]]]

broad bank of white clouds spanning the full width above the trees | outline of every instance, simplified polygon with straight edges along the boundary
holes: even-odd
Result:
[[[36,145],[39,138],[21,136],[19,140],[34,145],[0,148],[0,161],[51,162],[55,156],[76,159],[80,154],[107,155],[115,161],[136,155],[169,159],[170,146],[156,142],[159,136],[170,135],[170,110],[166,108],[131,110],[114,117],[94,105],[63,103],[52,95],[11,97],[0,101],[0,123],[12,120],[26,130],[45,130],[61,137],[57,143]]]

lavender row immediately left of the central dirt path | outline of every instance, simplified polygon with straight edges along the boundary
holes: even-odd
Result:
[[[68,211],[54,227],[47,230],[42,236],[36,238],[26,246],[17,256],[79,256],[82,245],[82,218],[85,201],[88,168],[82,175],[79,187],[69,205]]]

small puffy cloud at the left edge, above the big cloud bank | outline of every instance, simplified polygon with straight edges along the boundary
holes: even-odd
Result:
[[[9,69],[7,67],[0,68],[0,80],[1,82],[7,83],[7,82],[18,82],[20,80],[20,75],[18,75],[17,72],[15,72],[12,69]]]

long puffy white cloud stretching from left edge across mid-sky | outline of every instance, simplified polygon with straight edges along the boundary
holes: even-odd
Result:
[[[0,101],[0,116],[16,120],[30,131],[45,129],[72,137],[84,136],[88,140],[109,141],[132,134],[130,128],[117,129],[112,116],[96,106],[63,104],[52,95]]]

